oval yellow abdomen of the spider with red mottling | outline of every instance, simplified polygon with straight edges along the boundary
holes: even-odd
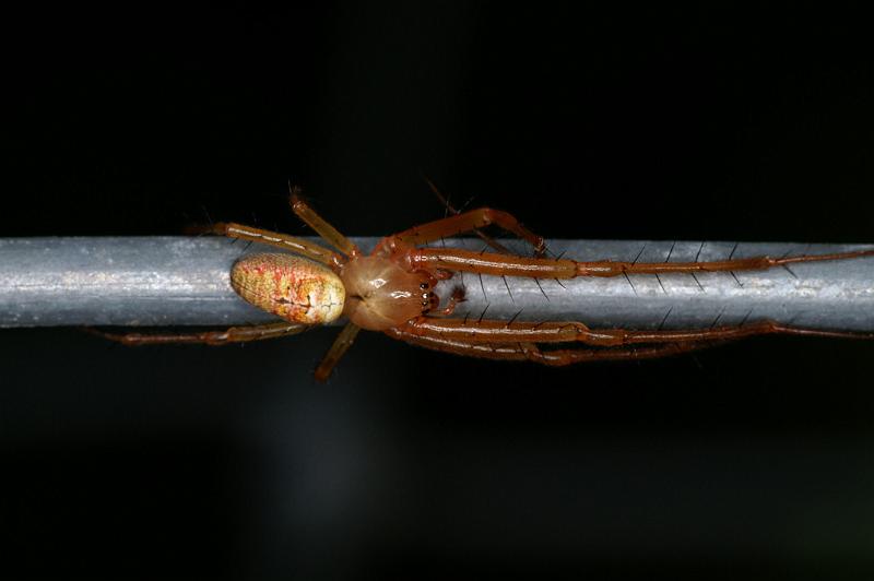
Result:
[[[330,270],[293,254],[251,254],[231,270],[231,286],[286,321],[324,324],[343,313],[346,293]]]

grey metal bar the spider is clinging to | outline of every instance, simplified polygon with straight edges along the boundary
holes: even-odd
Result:
[[[371,248],[376,238],[356,238]],[[523,245],[510,241],[522,253]],[[476,239],[447,246],[480,250]],[[872,248],[794,245],[553,240],[577,260],[671,262]],[[214,237],[0,239],[0,327],[231,325],[271,320],[243,301],[228,272],[244,252],[264,248]],[[270,251],[276,251],[270,249]],[[792,272],[634,275],[533,281],[464,274],[440,283],[446,297],[463,285],[459,317],[578,320],[590,327],[708,327],[773,319],[793,324],[874,331],[874,258],[793,264]],[[521,312],[520,312],[521,311]]]

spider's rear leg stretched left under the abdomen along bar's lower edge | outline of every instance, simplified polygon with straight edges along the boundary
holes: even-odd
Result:
[[[305,324],[288,322],[252,324],[247,327],[232,327],[224,331],[203,331],[196,333],[109,333],[96,329],[86,329],[91,333],[104,339],[117,341],[125,345],[161,345],[173,343],[203,343],[206,345],[227,345],[228,343],[244,343],[246,341],[260,341],[285,335],[294,335],[309,329]]]

